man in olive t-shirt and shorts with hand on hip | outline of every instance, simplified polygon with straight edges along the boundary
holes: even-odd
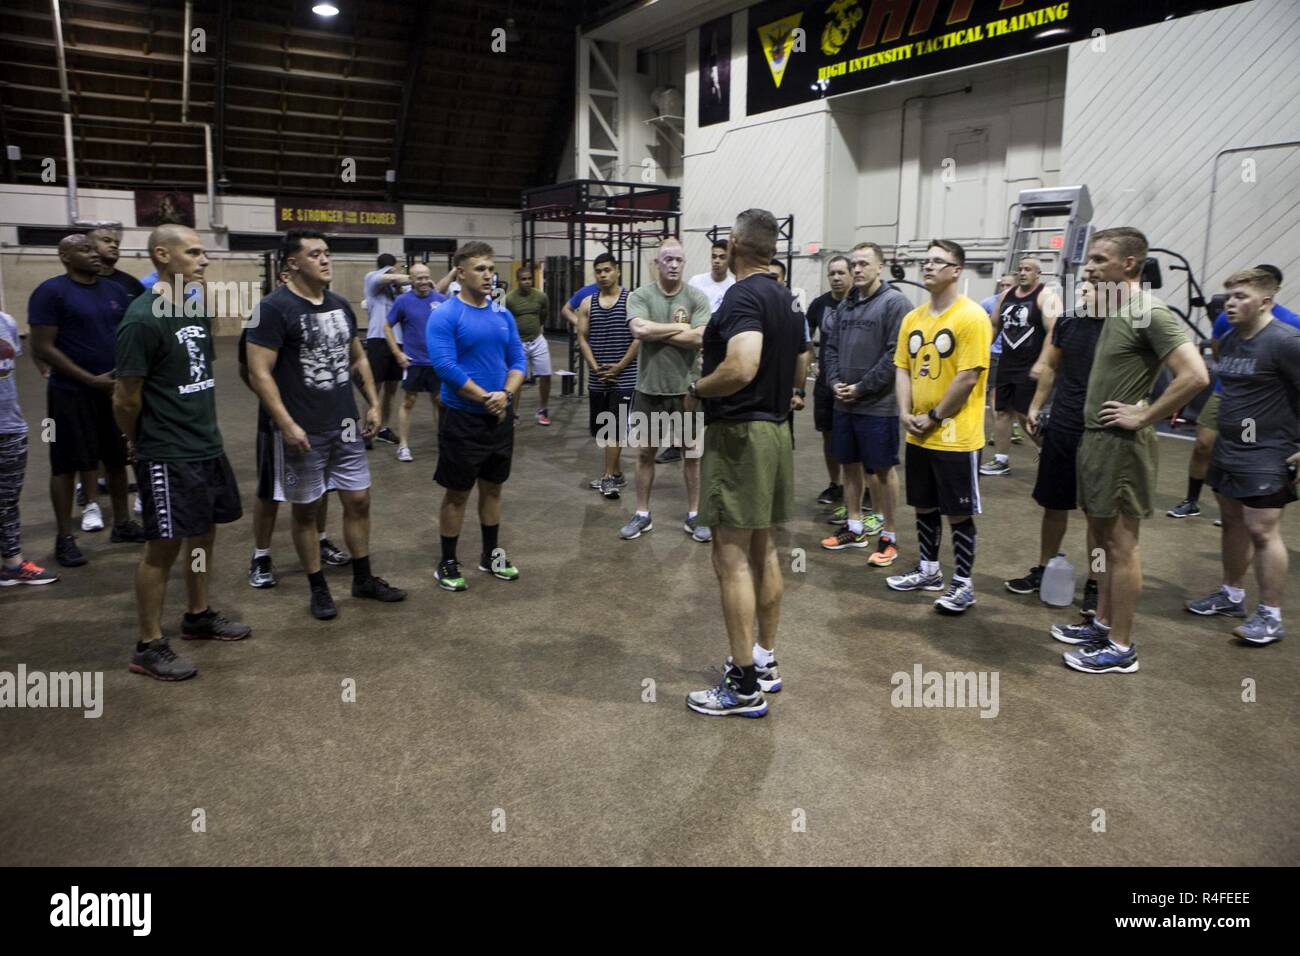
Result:
[[[1134,613],[1141,593],[1138,532],[1152,515],[1156,489],[1154,423],[1169,418],[1210,382],[1196,346],[1169,307],[1143,289],[1147,237],[1131,226],[1095,233],[1083,269],[1104,319],[1083,403],[1076,460],[1079,503],[1089,536],[1102,549],[1097,614],[1086,624],[1053,624],[1052,636],[1083,645],[1065,662],[1084,674],[1132,674],[1138,650]],[[1160,369],[1174,380],[1148,403]]]

